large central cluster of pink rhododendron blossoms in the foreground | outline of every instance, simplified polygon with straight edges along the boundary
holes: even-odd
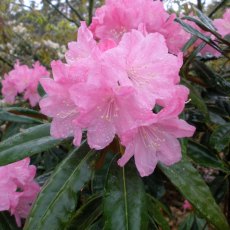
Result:
[[[42,113],[53,118],[52,136],[74,136],[74,144],[79,145],[82,131],[86,130],[88,144],[97,150],[119,138],[125,152],[118,164],[124,166],[134,156],[140,175],[148,176],[159,161],[165,165],[178,162],[181,147],[177,138],[194,133],[193,126],[179,119],[189,91],[179,84],[182,54],[170,54],[167,39],[161,33],[146,32],[147,25],[151,27],[155,22],[136,21],[139,15],[135,4],[150,7],[150,1],[132,1],[134,5],[127,0],[116,2],[118,6],[107,1],[108,6],[97,11],[97,16],[107,15],[107,7],[116,6],[115,15],[124,11],[117,16],[117,22],[129,23],[130,28],[119,39],[112,38],[106,32],[113,25],[106,24],[102,29],[95,25],[94,18],[90,28],[98,34],[97,41],[82,22],[77,42],[68,45],[67,63],[53,61],[53,79],[41,79],[47,95],[40,107]],[[153,3],[161,6],[158,1]],[[166,20],[163,15],[156,17]],[[109,23],[108,20],[105,21]],[[132,28],[133,23],[136,28]]]

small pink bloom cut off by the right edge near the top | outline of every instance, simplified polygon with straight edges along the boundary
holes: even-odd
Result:
[[[223,37],[230,34],[230,9],[225,11],[223,18],[215,19],[213,25]]]

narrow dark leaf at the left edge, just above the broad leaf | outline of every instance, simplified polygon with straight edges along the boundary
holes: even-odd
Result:
[[[24,115],[16,115],[13,113],[9,113],[6,111],[0,112],[0,120],[1,121],[10,121],[10,122],[17,122],[17,123],[43,123],[40,119],[24,116]]]

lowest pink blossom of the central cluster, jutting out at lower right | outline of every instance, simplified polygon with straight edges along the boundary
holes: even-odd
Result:
[[[169,166],[181,159],[181,147],[177,138],[190,137],[195,128],[178,118],[184,107],[184,96],[175,98],[148,124],[129,130],[121,136],[126,147],[118,160],[124,166],[134,156],[141,176],[150,175],[158,162]]]

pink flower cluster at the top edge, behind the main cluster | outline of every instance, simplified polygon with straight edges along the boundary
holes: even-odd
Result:
[[[189,35],[174,19],[175,15],[170,16],[161,1],[107,0],[104,6],[96,10],[90,29],[95,38],[102,41],[112,39],[118,43],[124,33],[142,25],[147,33],[161,33],[169,51],[177,54]]]

